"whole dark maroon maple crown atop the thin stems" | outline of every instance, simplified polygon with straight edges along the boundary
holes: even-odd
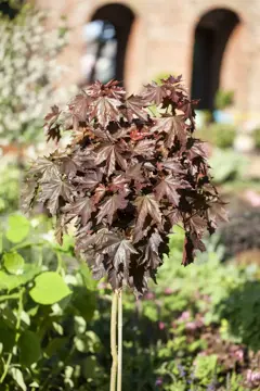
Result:
[[[48,139],[72,130],[64,151],[30,168],[24,207],[36,200],[56,216],[62,243],[74,219],[76,251],[94,278],[108,276],[142,294],[155,279],[172,226],[185,229],[183,265],[204,251],[225,211],[210,184],[204,143],[193,137],[195,113],[181,77],[145,86],[126,97],[117,81],[86,88],[65,112],[46,117]],[[160,113],[153,116],[151,106]]]

